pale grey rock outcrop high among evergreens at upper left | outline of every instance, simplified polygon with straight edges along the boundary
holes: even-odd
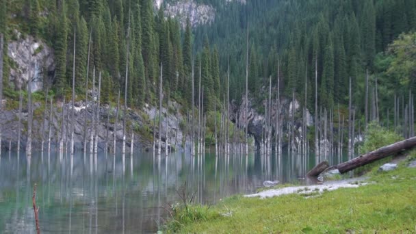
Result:
[[[15,90],[27,89],[29,74],[31,76],[31,91],[41,90],[44,81],[51,83],[55,73],[53,49],[32,36],[23,36],[14,31],[17,40],[8,44],[8,56],[13,66],[10,69],[10,85]]]

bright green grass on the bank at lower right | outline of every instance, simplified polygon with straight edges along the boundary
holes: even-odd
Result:
[[[415,233],[416,169],[374,173],[372,183],[305,198],[226,198],[196,220],[174,220],[179,233]],[[192,208],[190,208],[192,209]],[[231,212],[229,217],[222,213]],[[181,214],[178,215],[179,217]],[[201,217],[202,216],[202,217]],[[171,229],[175,222],[175,229]]]

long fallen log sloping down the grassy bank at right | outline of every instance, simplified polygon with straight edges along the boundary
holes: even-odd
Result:
[[[383,159],[385,157],[389,157],[391,155],[400,153],[400,151],[406,151],[415,146],[416,137],[408,138],[406,140],[402,140],[401,142],[395,142],[393,144],[390,144],[389,146],[383,146],[382,148],[378,148],[375,151],[365,153],[364,155],[351,159],[350,161],[338,164],[333,168],[338,169],[339,172],[343,174],[349,172],[350,170],[354,170],[355,168],[371,164],[373,161],[377,161],[379,159]],[[310,172],[308,172],[308,174],[309,173]]]

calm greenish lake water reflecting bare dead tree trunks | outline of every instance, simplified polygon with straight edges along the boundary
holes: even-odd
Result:
[[[177,203],[178,190],[196,192],[198,203],[216,203],[248,194],[265,180],[298,181],[300,157],[250,154],[191,157],[174,153],[153,157],[112,154],[90,156],[45,153],[0,157],[0,233],[36,233],[31,197],[42,233],[155,233],[167,216],[164,206]],[[307,169],[315,164],[311,155]]]

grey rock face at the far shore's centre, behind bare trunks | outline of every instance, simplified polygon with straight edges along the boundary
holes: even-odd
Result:
[[[265,100],[266,101],[266,100]],[[260,105],[265,106],[265,101],[261,103]],[[295,112],[295,138],[296,143],[300,142],[301,136],[301,127],[303,125],[302,119],[298,118],[297,116],[302,116],[302,107],[300,107],[300,103],[295,99],[294,103],[292,103],[291,99],[287,99],[284,97],[281,97],[281,110],[279,116],[277,116],[277,103],[274,101],[274,104],[272,105],[272,121],[276,122],[276,118],[279,119],[279,121],[283,122],[283,134],[287,134],[287,122],[291,121],[291,108],[294,107]],[[231,103],[231,121],[233,121],[237,127],[240,129],[244,129],[244,126],[246,124],[246,101],[245,99],[242,100],[240,105],[237,105],[236,101],[233,101]],[[307,109],[307,126],[313,125],[313,117],[309,110]],[[252,99],[250,97],[248,98],[248,134],[255,138],[255,144],[257,147],[259,147],[259,144],[261,142],[261,136],[263,134],[263,131],[265,131],[264,124],[265,124],[265,116],[264,114],[259,114],[257,112],[257,109],[255,108]],[[276,129],[273,126],[273,134],[275,133]],[[283,137],[283,140],[285,137]],[[283,146],[285,146],[285,142],[282,142]],[[296,149],[295,149],[296,151]]]

